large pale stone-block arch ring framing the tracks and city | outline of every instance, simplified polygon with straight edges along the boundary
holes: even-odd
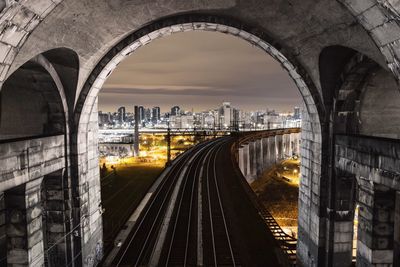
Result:
[[[79,205],[84,208],[76,207],[78,210],[83,212],[80,217],[84,217],[85,214],[91,214],[90,219],[92,225],[82,223],[82,235],[86,243],[93,244],[92,248],[90,245],[84,245],[83,248],[86,250],[83,252],[84,262],[87,255],[93,254],[93,246],[95,240],[101,241],[101,233],[94,233],[94,228],[101,226],[101,215],[96,213],[96,209],[100,205],[100,181],[98,179],[99,169],[98,169],[98,153],[97,153],[97,140],[95,138],[97,134],[97,95],[105,82],[107,77],[111,72],[118,66],[125,57],[129,56],[137,48],[146,45],[154,39],[166,36],[175,32],[184,31],[194,31],[194,30],[206,30],[206,31],[216,31],[226,34],[231,34],[242,38],[254,46],[264,50],[277,61],[279,61],[284,69],[288,71],[288,74],[294,80],[299,88],[300,93],[305,101],[305,123],[302,133],[302,160],[305,161],[302,164],[302,181],[304,194],[301,196],[303,205],[301,209],[307,212],[302,213],[303,218],[299,218],[299,225],[303,227],[303,231],[310,232],[312,223],[309,222],[307,214],[315,212],[318,214],[314,217],[314,225],[322,224],[322,219],[319,219],[319,212],[309,206],[308,198],[311,201],[320,203],[319,195],[320,189],[315,188],[310,185],[311,181],[318,181],[321,177],[321,126],[320,117],[324,117],[324,105],[320,99],[320,94],[318,93],[313,82],[309,78],[307,72],[302,68],[302,66],[296,61],[294,57],[286,57],[282,47],[273,41],[272,38],[267,36],[262,31],[258,31],[256,28],[248,27],[240,22],[224,17],[215,17],[210,15],[181,15],[170,18],[161,19],[154,23],[151,23],[144,28],[130,34],[128,37],[116,44],[108,53],[100,60],[95,69],[92,71],[91,75],[87,79],[83,86],[81,94],[78,98],[76,108],[74,111],[74,133],[72,134],[72,144],[73,144],[73,163],[72,163],[72,175],[80,177],[81,181],[75,181],[74,183],[80,183],[82,185],[83,181],[85,183],[91,183],[93,185],[92,189],[94,192],[98,192],[98,197],[89,196],[91,194],[88,187],[81,186],[80,199],[82,201]],[[273,45],[272,45],[273,44]],[[281,49],[281,50],[280,50]],[[314,192],[314,190],[316,190]],[[314,199],[313,198],[318,198]],[[88,203],[87,200],[91,200]],[[94,214],[94,215],[92,215]],[[315,220],[315,218],[318,218]],[[92,229],[91,229],[92,228]],[[323,229],[315,235],[315,240],[309,240],[318,244],[318,239],[320,235],[323,235]],[[309,244],[304,243],[300,246],[308,246]],[[302,258],[305,262],[308,261],[307,252],[301,249]],[[319,252],[318,252],[319,253]],[[318,257],[318,256],[315,256]]]

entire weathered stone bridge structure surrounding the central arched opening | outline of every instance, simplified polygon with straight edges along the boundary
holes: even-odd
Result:
[[[398,264],[400,3],[0,1],[0,260],[102,258],[97,95],[118,63],[182,31],[235,35],[304,99],[297,262]],[[0,264],[0,265],[1,265]]]

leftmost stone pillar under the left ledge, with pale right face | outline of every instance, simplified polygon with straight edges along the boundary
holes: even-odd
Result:
[[[7,265],[43,266],[42,178],[6,191]]]

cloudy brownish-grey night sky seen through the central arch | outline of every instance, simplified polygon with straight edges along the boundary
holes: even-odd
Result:
[[[139,48],[103,86],[99,110],[179,105],[201,111],[231,102],[243,110],[291,111],[297,87],[278,62],[246,41],[217,32],[177,33]]]

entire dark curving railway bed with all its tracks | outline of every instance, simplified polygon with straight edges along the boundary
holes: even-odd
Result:
[[[234,140],[203,142],[174,161],[113,266],[281,265],[234,163]]]

